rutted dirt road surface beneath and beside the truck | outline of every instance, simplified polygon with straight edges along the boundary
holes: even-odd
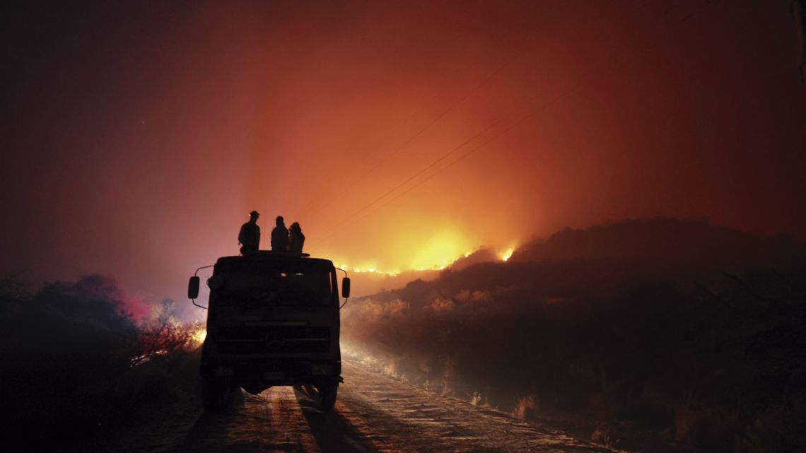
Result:
[[[359,364],[344,363],[334,410],[313,390],[276,387],[243,405],[201,414],[177,435],[174,453],[207,452],[606,452],[555,430],[431,393]]]

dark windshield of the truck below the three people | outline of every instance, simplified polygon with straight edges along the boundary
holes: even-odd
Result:
[[[327,305],[330,279],[322,269],[243,266],[213,276],[210,286],[228,305]]]

